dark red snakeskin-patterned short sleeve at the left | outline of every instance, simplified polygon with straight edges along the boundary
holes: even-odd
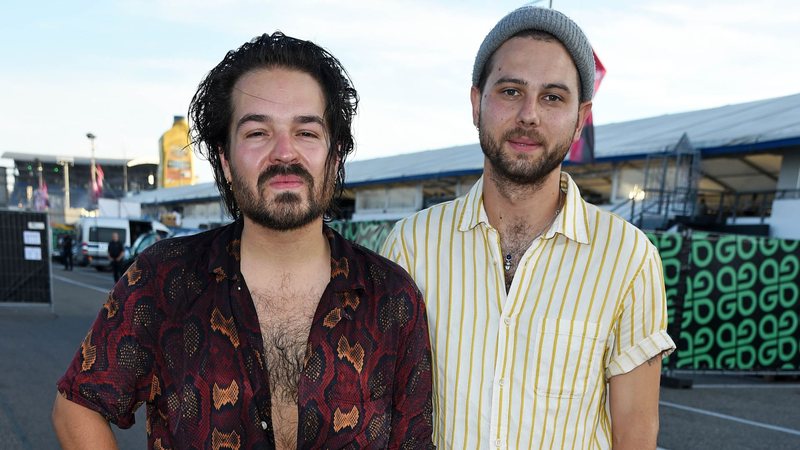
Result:
[[[120,428],[133,425],[138,406],[152,399],[161,322],[155,278],[140,256],[109,293],[57,384],[66,399]]]

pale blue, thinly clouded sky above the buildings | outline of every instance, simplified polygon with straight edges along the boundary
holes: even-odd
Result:
[[[795,0],[553,3],[584,28],[608,70],[596,123],[800,92]],[[100,156],[156,158],[159,136],[185,115],[203,75],[226,51],[275,30],[326,47],[350,72],[362,99],[357,159],[476,142],[474,55],[522,4],[16,2],[0,16],[0,154],[88,156],[91,131]]]

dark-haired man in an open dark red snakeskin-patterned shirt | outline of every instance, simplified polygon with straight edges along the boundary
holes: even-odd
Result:
[[[189,109],[235,221],[141,253],[66,375],[65,448],[114,448],[147,404],[149,448],[431,447],[422,297],[397,264],[324,224],[357,93],[317,45],[227,53]]]

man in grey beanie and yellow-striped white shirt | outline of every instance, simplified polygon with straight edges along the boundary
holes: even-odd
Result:
[[[501,19],[472,73],[483,177],[384,244],[426,299],[440,448],[656,447],[661,358],[675,348],[661,260],[561,170],[594,70],[560,12]]]

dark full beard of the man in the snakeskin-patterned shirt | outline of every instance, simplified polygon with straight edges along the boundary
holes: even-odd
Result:
[[[272,230],[290,231],[302,228],[322,217],[333,200],[331,186],[317,188],[314,177],[300,164],[273,165],[258,176],[256,191],[253,192],[243,177],[237,176],[231,166],[233,195],[239,210],[253,222]],[[272,199],[264,199],[261,192],[264,185],[277,175],[295,175],[306,185],[304,195],[295,192],[281,192]],[[329,184],[326,177],[324,184]]]

